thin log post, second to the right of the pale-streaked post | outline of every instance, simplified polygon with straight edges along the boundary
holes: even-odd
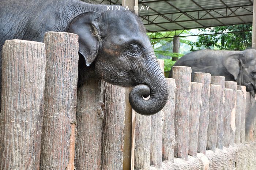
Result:
[[[237,102],[237,105],[242,105],[241,107],[241,130],[240,130],[240,142],[245,143],[245,116],[246,116],[246,87],[237,86],[237,90],[242,91],[242,101]]]

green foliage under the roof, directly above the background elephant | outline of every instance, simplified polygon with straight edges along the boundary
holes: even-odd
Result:
[[[220,50],[245,50],[252,46],[252,31],[237,32],[241,30],[251,30],[252,24],[219,26],[209,29],[199,29],[204,33],[217,33],[212,35],[202,35],[197,42],[188,42],[191,51],[199,49],[220,49]],[[230,33],[225,33],[230,32]],[[225,33],[225,34],[220,34]]]

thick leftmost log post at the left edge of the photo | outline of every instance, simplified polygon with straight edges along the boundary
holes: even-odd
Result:
[[[39,170],[45,64],[44,43],[5,41],[1,75],[1,170]]]

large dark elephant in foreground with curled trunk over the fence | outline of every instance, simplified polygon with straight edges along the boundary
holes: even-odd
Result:
[[[1,0],[0,50],[7,39],[43,42],[48,31],[78,34],[78,86],[91,78],[135,86],[129,94],[132,108],[155,114],[167,102],[167,81],[140,18],[118,8],[79,0]]]

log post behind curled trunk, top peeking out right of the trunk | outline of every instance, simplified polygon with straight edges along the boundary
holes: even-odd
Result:
[[[163,72],[164,61],[158,60],[158,64]],[[151,145],[150,145],[150,165],[157,168],[162,166],[162,137],[163,137],[163,111],[151,116]]]

